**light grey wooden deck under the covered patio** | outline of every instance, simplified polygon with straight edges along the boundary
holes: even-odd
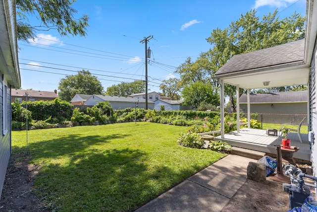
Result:
[[[311,149],[310,143],[308,141],[308,135],[302,134],[303,143],[299,141],[297,133],[288,133],[288,138],[291,139],[291,146],[297,146],[300,148],[297,152],[294,153],[294,158],[310,161]],[[282,143],[282,140],[278,137],[267,136],[265,130],[248,128],[240,129],[240,133],[237,133],[237,131],[233,131],[225,134],[224,139],[220,139],[220,136],[215,137],[214,140],[225,141],[231,146],[237,146],[272,154],[276,154],[275,145]]]

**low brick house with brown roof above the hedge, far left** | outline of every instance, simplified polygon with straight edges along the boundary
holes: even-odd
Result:
[[[25,101],[27,93],[28,101],[51,101],[58,98],[57,90],[53,91],[40,91],[40,90],[21,90],[12,89],[11,90],[11,101],[19,102]]]

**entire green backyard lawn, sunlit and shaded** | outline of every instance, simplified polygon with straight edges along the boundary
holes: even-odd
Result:
[[[133,211],[224,154],[177,144],[185,127],[147,122],[28,131],[35,187],[56,211]],[[13,153],[26,131],[12,132]]]

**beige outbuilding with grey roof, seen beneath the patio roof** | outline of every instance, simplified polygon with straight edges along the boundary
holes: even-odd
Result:
[[[307,114],[307,90],[250,93],[250,112],[259,114]],[[247,113],[247,94],[240,96],[240,112]]]

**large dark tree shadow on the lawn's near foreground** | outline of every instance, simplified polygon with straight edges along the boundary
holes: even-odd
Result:
[[[175,184],[177,176],[165,166],[149,171],[146,156],[129,148],[83,152],[67,165],[43,167],[36,188],[54,210],[133,211]]]

